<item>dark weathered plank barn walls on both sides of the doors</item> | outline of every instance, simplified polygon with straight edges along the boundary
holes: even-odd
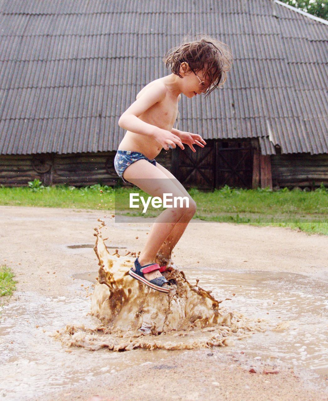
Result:
[[[28,181],[34,180],[34,178],[38,178],[46,185],[66,183],[84,186],[99,182],[114,185],[117,182],[117,174],[113,167],[115,152],[42,155],[53,160],[52,170],[45,174],[34,171],[32,167],[34,156],[0,156],[0,184],[26,186]],[[105,170],[107,158],[110,158],[112,165],[110,174]],[[320,186],[321,182],[328,186],[328,154],[312,156],[310,154],[283,154],[273,155],[270,158],[273,186],[309,186],[311,188]],[[174,162],[171,163],[171,151],[162,150],[156,160],[168,170],[173,170]],[[254,170],[257,169],[253,169],[253,174]],[[172,173],[174,174],[174,172]],[[257,174],[253,176],[253,187],[256,187],[258,181]]]

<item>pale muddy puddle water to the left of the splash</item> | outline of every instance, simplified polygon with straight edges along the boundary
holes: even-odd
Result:
[[[85,385],[99,376],[116,375],[131,364],[158,366],[168,354],[161,350],[123,354],[100,350],[95,355],[82,348],[67,350],[53,334],[67,322],[96,326],[98,319],[88,314],[89,298],[45,298],[33,292],[16,296],[18,300],[0,308],[1,400],[34,399],[56,389]]]

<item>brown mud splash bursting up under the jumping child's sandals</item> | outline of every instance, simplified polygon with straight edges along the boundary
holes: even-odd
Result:
[[[173,280],[169,294],[156,292],[128,274],[135,253],[111,255],[102,238],[104,221],[95,228],[95,253],[99,277],[91,296],[91,314],[101,325],[90,329],[67,325],[56,334],[67,346],[113,351],[144,349],[192,349],[233,344],[256,331],[265,331],[264,320],[220,308],[211,291],[192,285],[174,263],[164,276]]]

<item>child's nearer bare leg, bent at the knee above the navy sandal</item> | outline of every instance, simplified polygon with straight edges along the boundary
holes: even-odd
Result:
[[[145,159],[138,160],[131,164],[124,171],[123,176],[125,180],[138,186],[151,196],[159,196],[161,199],[163,199],[164,193],[170,193],[173,197],[186,196],[186,194],[182,193],[174,184],[173,180],[168,178],[160,168],[155,167]],[[139,262],[142,266],[155,261],[158,250],[172,229],[174,229],[177,221],[180,219],[181,221],[184,221],[188,213],[190,212],[188,211],[188,208],[186,208],[186,202],[184,201],[182,207],[168,208],[157,217],[149,232],[144,249],[139,256]],[[194,211],[192,211],[192,214],[193,213]],[[190,218],[188,217],[186,220],[190,221]],[[182,227],[181,229],[184,231],[185,227]],[[183,231],[179,233],[180,236]],[[146,273],[145,277],[147,280],[151,280],[160,275],[159,271],[153,271],[151,273]]]

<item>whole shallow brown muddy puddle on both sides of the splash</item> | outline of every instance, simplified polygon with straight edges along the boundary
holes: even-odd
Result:
[[[189,282],[199,279],[202,288],[212,290],[217,300],[224,300],[220,304],[223,309],[266,320],[275,327],[236,339],[234,345],[217,348],[219,352],[243,352],[254,361],[293,366],[300,375],[323,383],[328,375],[326,278],[274,271],[218,271],[205,266],[184,271]],[[80,287],[90,285],[97,274],[75,275],[69,293],[78,290],[76,296],[45,298],[24,292],[1,308],[0,399],[33,399],[55,389],[116,375],[131,364],[165,364],[172,352],[194,352],[91,352],[63,347],[52,335],[67,323],[76,325],[78,321],[89,328],[99,325],[99,320],[89,315],[91,300]]]

